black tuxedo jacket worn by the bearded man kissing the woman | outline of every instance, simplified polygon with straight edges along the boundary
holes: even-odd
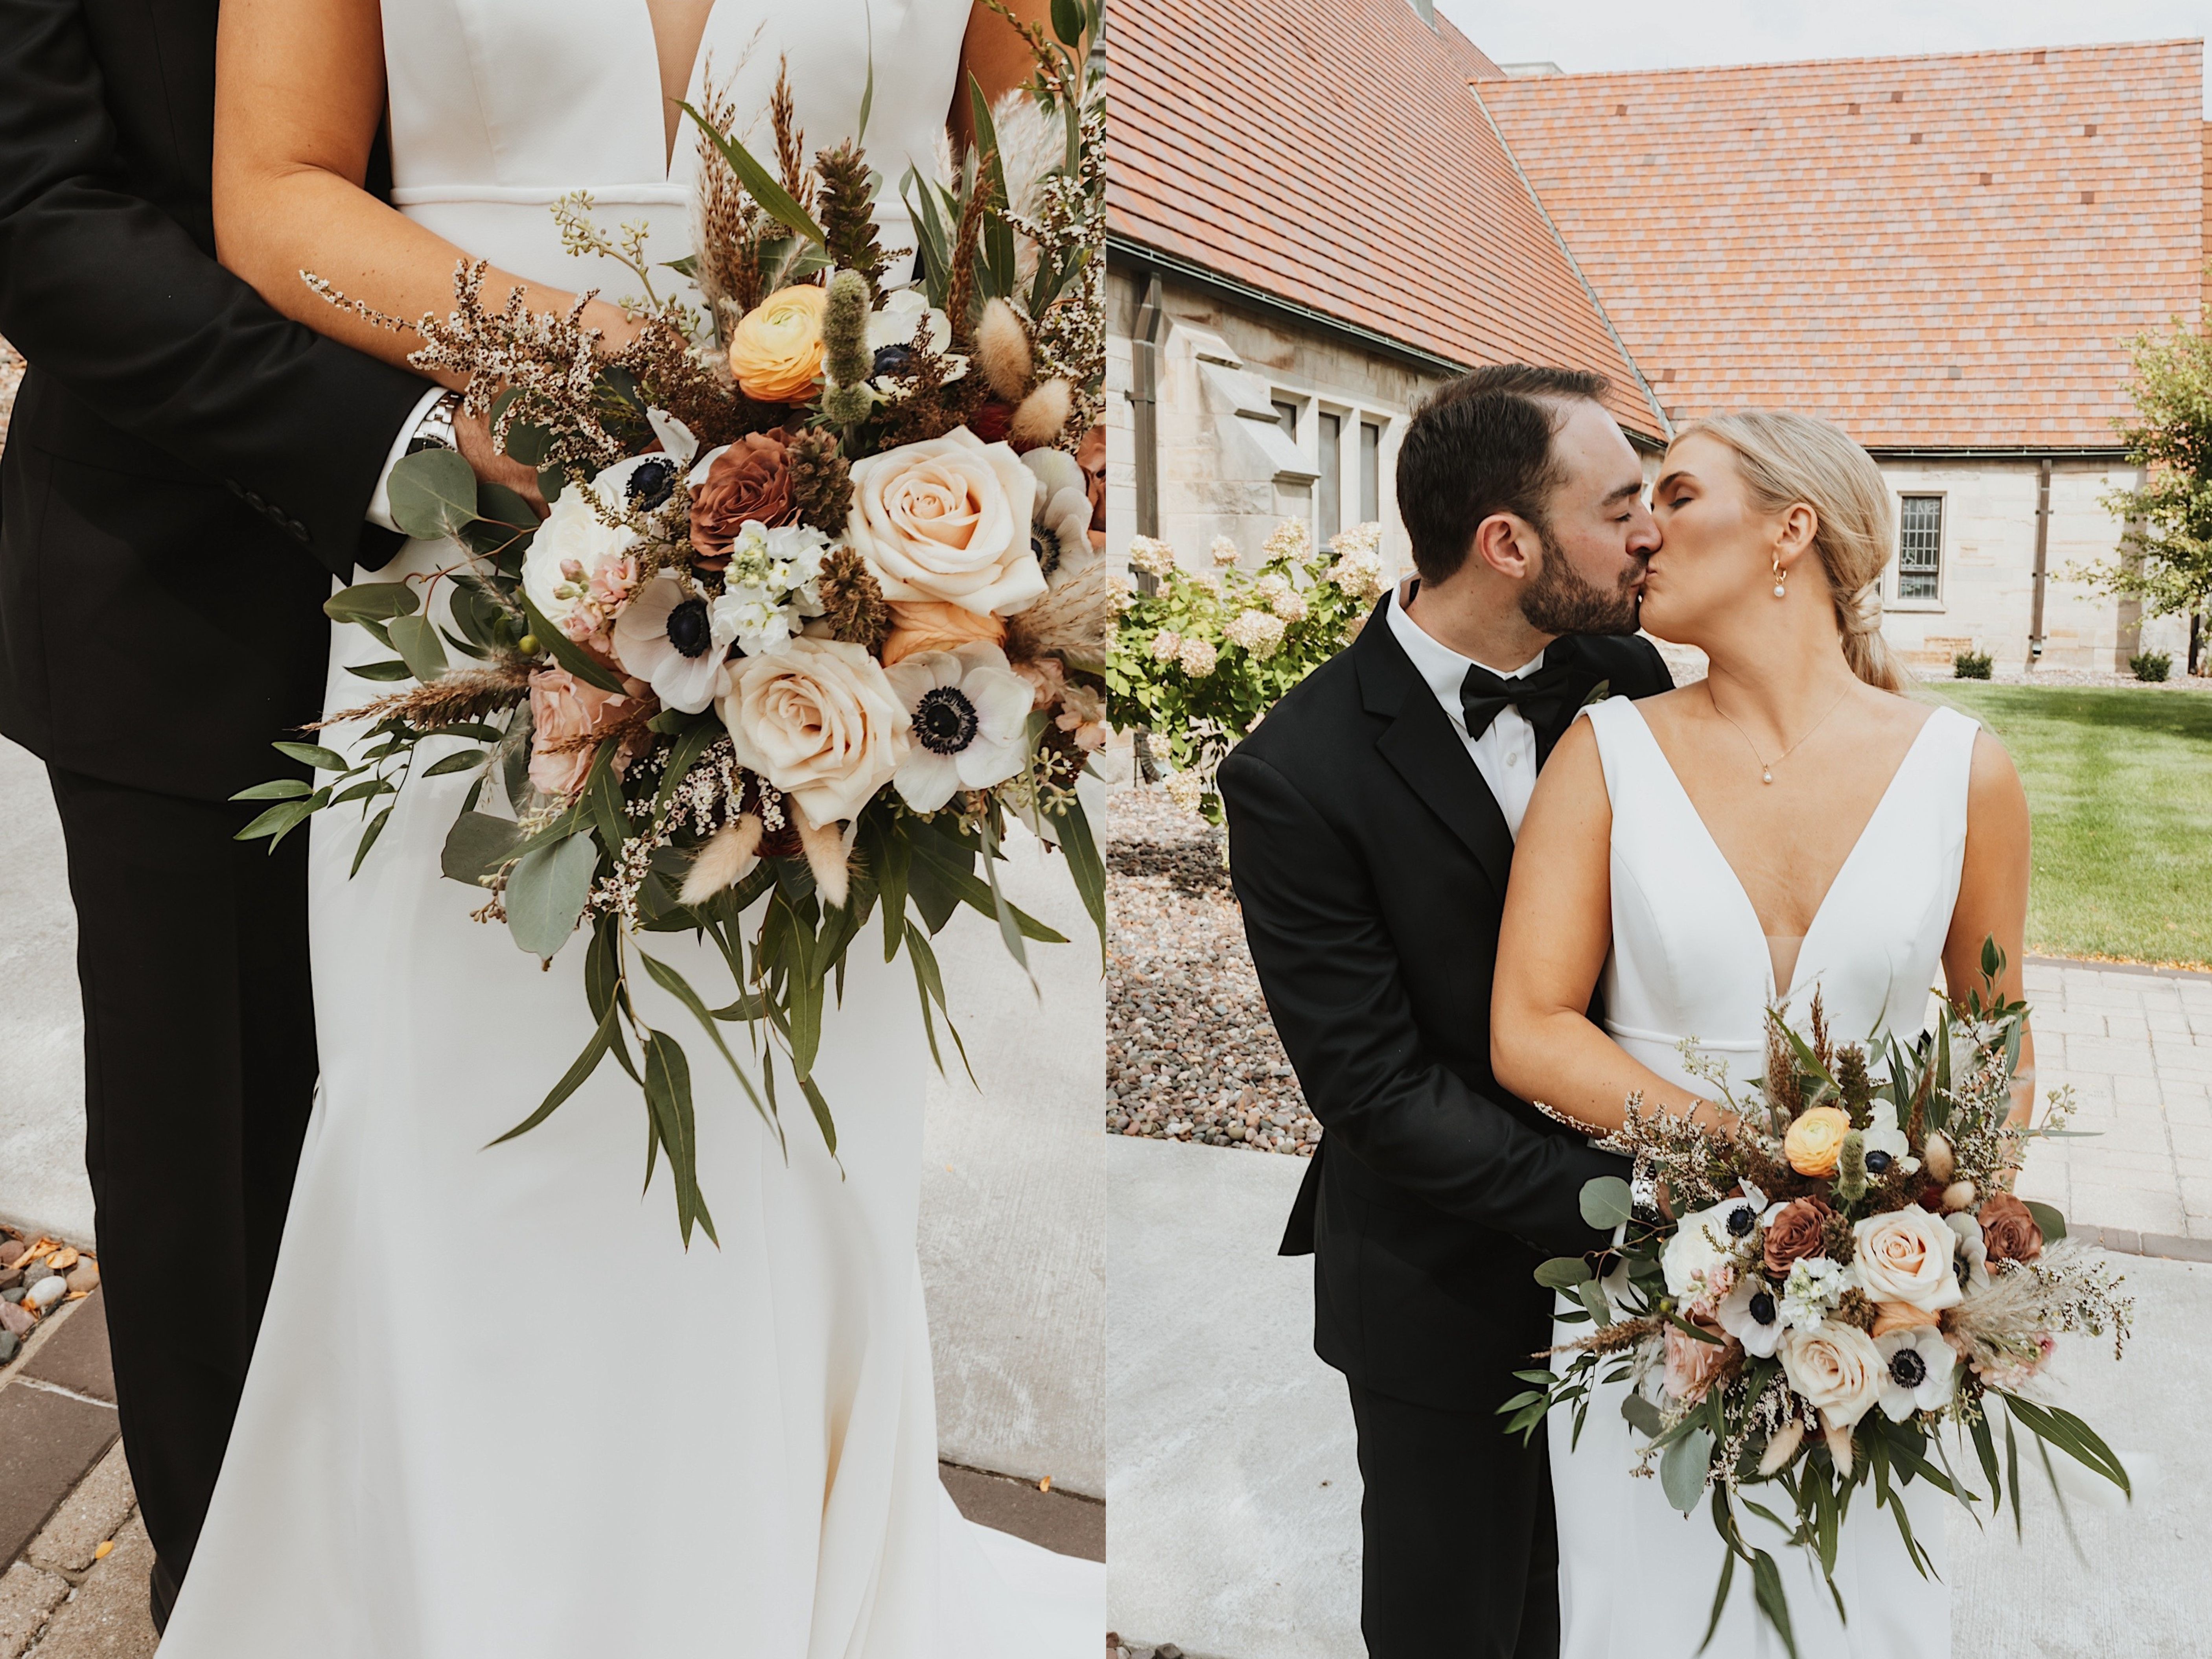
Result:
[[[1327,1130],[1283,1254],[1314,1252],[1314,1349],[1354,1383],[1486,1409],[1544,1347],[1531,1270],[1606,1239],[1582,1183],[1626,1175],[1491,1077],[1513,834],[1391,637],[1358,639],[1221,763],[1230,876],[1267,1011]],[[1644,639],[1568,637],[1573,706],[1666,690]]]

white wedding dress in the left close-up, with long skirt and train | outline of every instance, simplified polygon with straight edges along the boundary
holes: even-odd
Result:
[[[969,0],[872,11],[867,146],[898,248],[896,179],[929,161]],[[712,55],[717,77],[745,60],[737,106],[765,108],[787,58],[810,148],[834,144],[865,42],[863,0],[721,0],[692,102]],[[650,219],[655,259],[688,250],[695,146],[670,181],[641,0],[385,0],[385,58],[409,217],[615,299],[635,279],[562,254],[557,195]],[[378,580],[449,555],[409,544]],[[383,690],[343,672],[380,655],[336,630],[330,708]],[[314,821],[323,1088],[164,1659],[1095,1659],[1104,1568],[962,1522],[938,1482],[907,962],[865,936],[825,1020],[843,1168],[803,1104],[785,1159],[706,1035],[644,987],[692,1057],[721,1234],[686,1252],[666,1161],[639,1194],[644,1108],[617,1066],[487,1148],[588,1035],[584,951],[540,973],[469,920],[480,896],[438,876],[469,779],[422,765],[352,880],[358,821]],[[657,936],[664,951],[728,998],[710,951]]]

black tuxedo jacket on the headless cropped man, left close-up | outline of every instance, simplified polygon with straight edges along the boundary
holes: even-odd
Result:
[[[0,732],[223,799],[316,717],[330,577],[425,380],[215,263],[217,0],[0,0]]]

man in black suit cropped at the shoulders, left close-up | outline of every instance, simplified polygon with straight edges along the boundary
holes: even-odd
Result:
[[[316,719],[332,577],[438,387],[215,261],[217,0],[0,0],[0,732],[46,761],[86,1168],[155,1617],[199,1537],[314,1093],[307,836],[230,794]],[[372,164],[374,170],[374,164]],[[482,449],[473,431],[465,447]],[[305,772],[301,772],[305,776]]]

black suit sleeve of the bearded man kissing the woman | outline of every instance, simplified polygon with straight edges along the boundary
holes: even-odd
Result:
[[[1363,863],[1248,750],[1223,759],[1219,785],[1267,1011],[1329,1137],[1438,1210],[1553,1254],[1599,1250],[1582,1183],[1628,1164],[1524,1124],[1438,1064]]]

